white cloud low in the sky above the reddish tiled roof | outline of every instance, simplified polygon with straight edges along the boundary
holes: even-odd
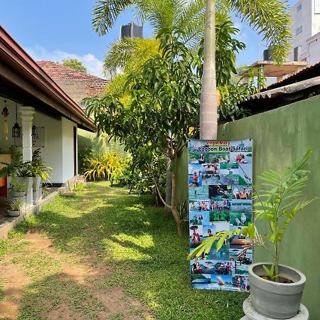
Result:
[[[87,73],[90,75],[96,75],[100,78],[105,78],[102,75],[102,61],[99,60],[92,53],[86,53],[85,55],[76,55],[75,53],[68,53],[62,50],[49,51],[42,46],[36,46],[35,48],[26,48],[26,51],[31,57],[36,60],[50,60],[53,62],[61,62],[63,59],[76,58],[82,62],[82,65],[87,68]]]

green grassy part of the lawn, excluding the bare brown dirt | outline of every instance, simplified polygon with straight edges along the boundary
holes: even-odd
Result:
[[[156,319],[240,319],[247,294],[191,289],[188,236],[177,238],[174,219],[153,205],[150,196],[92,183],[76,198],[58,197],[15,232],[46,228],[58,250],[105,262],[113,272],[95,286],[126,288]]]

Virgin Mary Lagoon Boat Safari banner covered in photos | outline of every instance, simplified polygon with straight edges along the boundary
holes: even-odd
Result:
[[[224,230],[252,223],[252,139],[188,142],[189,238],[191,252]],[[248,292],[250,239],[232,235],[217,252],[191,259],[191,286]]]

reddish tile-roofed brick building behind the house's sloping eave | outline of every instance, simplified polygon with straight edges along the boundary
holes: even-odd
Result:
[[[38,61],[37,63],[80,107],[80,102],[85,97],[95,95],[101,97],[109,82],[95,75],[68,68],[53,61]]]

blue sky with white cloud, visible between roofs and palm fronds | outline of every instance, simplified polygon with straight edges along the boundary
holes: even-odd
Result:
[[[292,6],[297,0],[289,0]],[[78,58],[87,72],[104,78],[102,61],[110,45],[119,38],[120,26],[135,21],[128,10],[122,14],[106,36],[92,30],[94,0],[0,0],[0,24],[34,60],[61,62]],[[238,65],[250,65],[262,57],[261,38],[250,27],[235,18],[240,29],[238,39],[247,48],[238,55]],[[144,36],[151,36],[144,26]]]

